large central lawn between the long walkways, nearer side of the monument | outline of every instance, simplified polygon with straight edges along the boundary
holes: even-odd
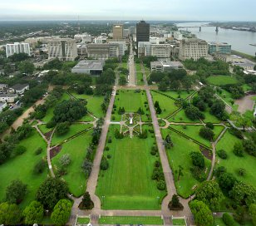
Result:
[[[106,143],[110,150],[104,153],[111,155],[110,167],[101,170],[96,187],[102,209],[160,209],[160,200],[166,192],[158,190],[151,179],[155,160],[159,160],[159,156],[150,155],[154,134],[149,133],[145,140],[138,137],[116,140],[116,128],[119,126],[110,128],[108,137],[111,136],[112,143]]]

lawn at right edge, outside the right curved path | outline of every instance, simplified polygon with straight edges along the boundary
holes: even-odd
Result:
[[[229,131],[224,134],[224,137],[217,144],[216,150],[225,150],[228,153],[228,159],[221,160],[217,156],[219,164],[216,166],[225,166],[230,173],[236,176],[237,179],[244,181],[246,184],[252,184],[256,188],[256,158],[252,155],[248,155],[247,153],[244,153],[244,157],[241,158],[234,155],[233,148],[234,144],[237,142],[241,142],[241,140],[236,138],[234,135],[231,135]],[[246,170],[244,177],[236,174],[236,170],[238,168],[244,168]]]

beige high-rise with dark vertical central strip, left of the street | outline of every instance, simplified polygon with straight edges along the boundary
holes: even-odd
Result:
[[[76,41],[71,38],[53,38],[48,43],[48,59],[74,61],[77,55]]]

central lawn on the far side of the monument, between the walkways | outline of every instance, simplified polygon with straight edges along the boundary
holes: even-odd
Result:
[[[145,105],[145,102],[147,103],[145,91],[140,91],[140,93],[138,93],[132,90],[119,90],[115,99],[116,111],[115,114],[113,114],[116,118],[115,120],[121,120],[121,115],[118,115],[119,107],[125,107],[127,113],[137,112],[139,108],[141,108],[145,112],[144,115],[141,115],[142,120],[151,120],[146,115],[150,115],[150,111],[147,110],[148,105]]]

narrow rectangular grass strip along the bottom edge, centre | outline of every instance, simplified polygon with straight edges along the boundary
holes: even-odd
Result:
[[[164,224],[160,217],[101,217],[99,224]]]

